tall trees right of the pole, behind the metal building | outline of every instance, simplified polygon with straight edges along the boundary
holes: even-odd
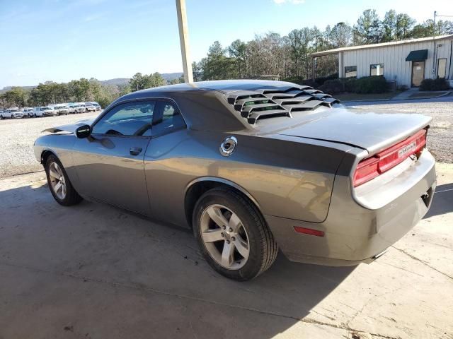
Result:
[[[354,25],[340,22],[324,30],[316,26],[292,30],[282,36],[275,32],[256,35],[248,42],[234,40],[228,47],[215,41],[207,56],[193,63],[194,80],[227,78],[258,78],[279,76],[289,81],[302,81],[312,76],[313,64],[309,54],[326,49],[432,37],[433,20],[423,23],[406,13],[387,11],[379,18],[377,11],[363,11]],[[453,33],[453,22],[436,22],[435,35]],[[332,76],[338,71],[336,56],[317,59],[316,76]]]

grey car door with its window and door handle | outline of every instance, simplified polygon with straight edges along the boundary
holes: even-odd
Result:
[[[82,195],[149,214],[144,154],[155,102],[116,105],[97,119],[88,138],[77,139],[73,161]]]

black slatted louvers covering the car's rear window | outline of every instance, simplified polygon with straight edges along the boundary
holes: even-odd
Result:
[[[228,95],[226,100],[252,125],[260,119],[291,118],[292,112],[311,111],[340,103],[331,95],[304,85],[286,90],[239,90]]]

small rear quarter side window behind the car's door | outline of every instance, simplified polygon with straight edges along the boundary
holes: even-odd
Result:
[[[178,107],[171,101],[157,102],[154,114],[153,136],[160,136],[185,127],[185,122]]]

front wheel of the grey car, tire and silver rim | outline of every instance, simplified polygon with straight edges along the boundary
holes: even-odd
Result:
[[[55,155],[50,155],[47,158],[45,172],[50,193],[57,203],[63,206],[71,206],[83,200],[72,186],[62,163]]]

